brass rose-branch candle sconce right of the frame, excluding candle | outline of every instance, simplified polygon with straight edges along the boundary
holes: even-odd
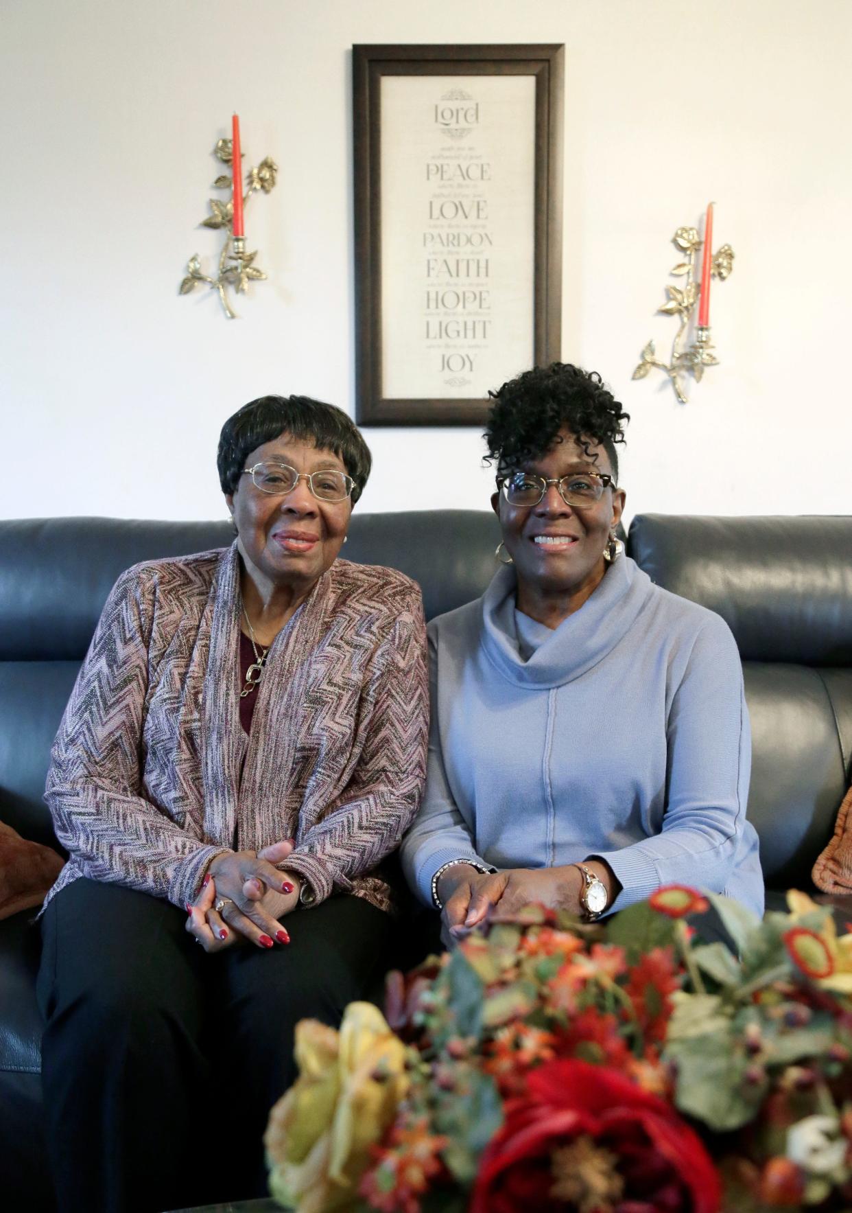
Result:
[[[704,376],[705,368],[717,366],[719,359],[714,353],[713,341],[710,340],[710,325],[709,323],[702,324],[701,317],[694,330],[692,344],[684,348],[686,331],[699,297],[701,284],[694,279],[694,269],[698,250],[703,247],[704,241],[698,235],[697,228],[680,227],[671,238],[671,243],[682,254],[682,260],[679,261],[670,273],[675,278],[681,278],[682,283],[677,286],[667,286],[665,290],[669,298],[662,307],[657,308],[664,315],[676,315],[679,318],[677,331],[671,342],[671,357],[668,363],[658,359],[653,341],[648,341],[642,351],[641,361],[633,372],[633,378],[645,378],[651,372],[651,368],[656,366],[669,376],[680,403],[687,404],[688,397],[686,394],[685,376],[692,375],[696,382],[699,383]],[[725,281],[732,269],[733,249],[730,244],[724,244],[715,254],[704,258],[703,275],[709,274],[709,278],[719,278],[721,281]],[[709,306],[709,280],[707,287]]]

